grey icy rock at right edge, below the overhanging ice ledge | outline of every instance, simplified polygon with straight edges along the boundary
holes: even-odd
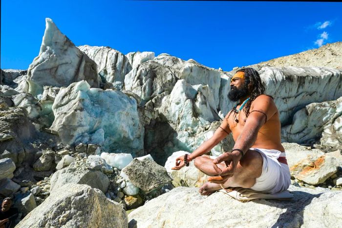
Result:
[[[338,149],[336,147],[342,145],[341,115],[342,97],[336,101],[311,103],[293,116],[290,125],[281,129],[281,136],[287,142],[306,143],[321,137],[324,132],[322,141],[330,142]]]

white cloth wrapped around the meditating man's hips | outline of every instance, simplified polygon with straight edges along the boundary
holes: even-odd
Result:
[[[279,157],[285,157],[285,153],[259,148],[250,150],[259,152],[262,157],[261,176],[256,178],[256,183],[250,189],[271,194],[288,189],[291,183],[289,166],[277,160]]]

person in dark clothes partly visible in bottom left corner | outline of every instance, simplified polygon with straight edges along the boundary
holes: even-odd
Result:
[[[15,226],[15,219],[18,217],[18,210],[11,208],[12,199],[7,197],[2,201],[0,210],[0,228],[12,228]]]

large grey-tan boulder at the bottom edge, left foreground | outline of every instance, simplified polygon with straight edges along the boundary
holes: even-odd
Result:
[[[117,227],[127,228],[121,205],[87,185],[66,184],[32,210],[18,225],[26,227]]]

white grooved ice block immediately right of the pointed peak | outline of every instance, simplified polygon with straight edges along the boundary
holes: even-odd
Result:
[[[132,69],[121,52],[105,46],[79,46],[97,64],[97,72],[117,90],[123,89],[125,75]]]

